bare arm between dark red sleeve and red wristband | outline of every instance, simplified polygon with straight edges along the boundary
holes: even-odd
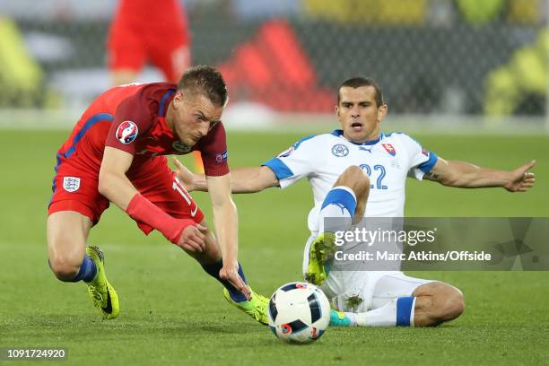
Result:
[[[126,177],[126,171],[132,161],[131,154],[108,146],[105,148],[100,167],[98,187],[100,194],[124,211],[137,193],[137,189]]]

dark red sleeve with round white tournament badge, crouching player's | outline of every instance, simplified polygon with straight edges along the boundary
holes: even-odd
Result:
[[[153,126],[153,113],[141,92],[122,100],[115,111],[105,146],[135,155],[135,140]]]

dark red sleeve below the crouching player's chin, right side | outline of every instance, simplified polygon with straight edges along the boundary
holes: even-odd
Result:
[[[229,173],[227,135],[222,123],[218,123],[198,142],[197,150],[202,155],[207,176],[222,176]]]

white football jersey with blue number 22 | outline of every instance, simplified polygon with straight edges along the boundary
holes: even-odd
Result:
[[[335,130],[305,137],[263,165],[274,171],[282,188],[301,178],[309,180],[315,200],[309,230],[315,233],[322,202],[348,167],[356,165],[370,177],[365,217],[403,217],[406,177],[423,179],[437,160],[435,153],[403,133],[380,134],[377,140],[353,144],[342,130]]]

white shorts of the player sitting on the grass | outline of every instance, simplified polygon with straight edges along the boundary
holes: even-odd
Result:
[[[303,274],[309,266],[309,248],[315,236],[305,245]],[[331,271],[320,286],[340,311],[365,312],[378,309],[393,299],[411,296],[416,288],[434,282],[405,275],[400,271]],[[352,303],[349,298],[354,299]]]

